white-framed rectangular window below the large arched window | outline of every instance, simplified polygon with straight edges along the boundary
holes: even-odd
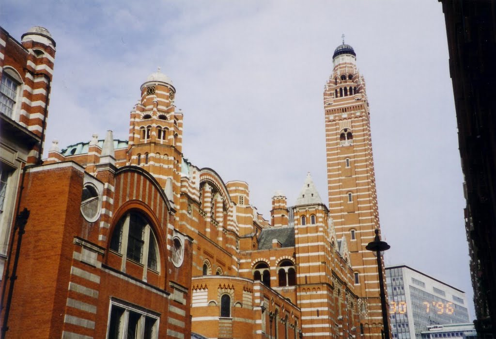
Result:
[[[109,339],[109,332],[110,332],[110,321],[111,321],[111,315],[112,315],[112,306],[120,307],[124,309],[124,313],[122,315],[123,318],[121,318],[124,322],[122,324],[123,327],[123,333],[120,334],[120,339],[126,339],[127,338],[127,325],[129,321],[129,312],[134,312],[138,313],[141,315],[141,318],[139,320],[139,325],[140,326],[140,333],[137,336],[137,338],[143,338],[144,336],[144,322],[145,322],[145,317],[155,319],[155,324],[153,325],[153,332],[152,333],[152,339],[158,339],[158,331],[160,328],[160,313],[148,310],[146,308],[143,308],[141,306],[133,305],[129,302],[126,302],[121,299],[117,299],[115,297],[110,297],[110,304],[109,304],[109,314],[107,318],[107,334],[106,334],[106,339]]]

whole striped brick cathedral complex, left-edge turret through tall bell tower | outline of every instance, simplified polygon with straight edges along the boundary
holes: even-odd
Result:
[[[328,203],[309,173],[295,205],[274,193],[266,219],[248,183],[184,157],[160,69],[136,82],[127,140],[54,141],[41,160],[55,41],[42,27],[21,43],[0,33],[2,149],[26,154],[14,167],[1,153],[2,338],[381,337],[370,112],[351,46],[334,51],[323,93]],[[30,111],[33,93],[46,99]],[[16,146],[22,133],[33,140]]]

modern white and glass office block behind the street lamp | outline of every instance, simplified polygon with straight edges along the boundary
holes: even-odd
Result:
[[[408,266],[386,268],[393,338],[420,339],[429,326],[468,323],[465,292]]]

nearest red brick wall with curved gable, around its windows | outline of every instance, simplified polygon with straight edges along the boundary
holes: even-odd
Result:
[[[193,242],[182,236],[183,265],[173,265],[175,210],[148,172],[99,163],[94,178],[73,162],[59,162],[29,169],[26,180],[31,185],[21,205],[31,211],[29,236],[21,248],[8,336],[105,338],[111,305],[118,303],[157,317],[159,338],[189,338]],[[79,212],[88,181],[101,194],[95,222]],[[110,249],[114,228],[129,211],[149,220],[158,245],[156,268]],[[36,321],[25,321],[26,307]]]

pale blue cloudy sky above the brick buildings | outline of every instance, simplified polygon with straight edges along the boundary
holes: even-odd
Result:
[[[184,113],[184,156],[247,182],[266,219],[273,193],[292,205],[307,172],[327,202],[322,95],[345,34],[370,103],[385,264],[465,291],[474,316],[438,1],[3,0],[0,25],[17,40],[43,26],[57,43],[45,150],[107,130],[127,139],[140,85],[161,67]]]

